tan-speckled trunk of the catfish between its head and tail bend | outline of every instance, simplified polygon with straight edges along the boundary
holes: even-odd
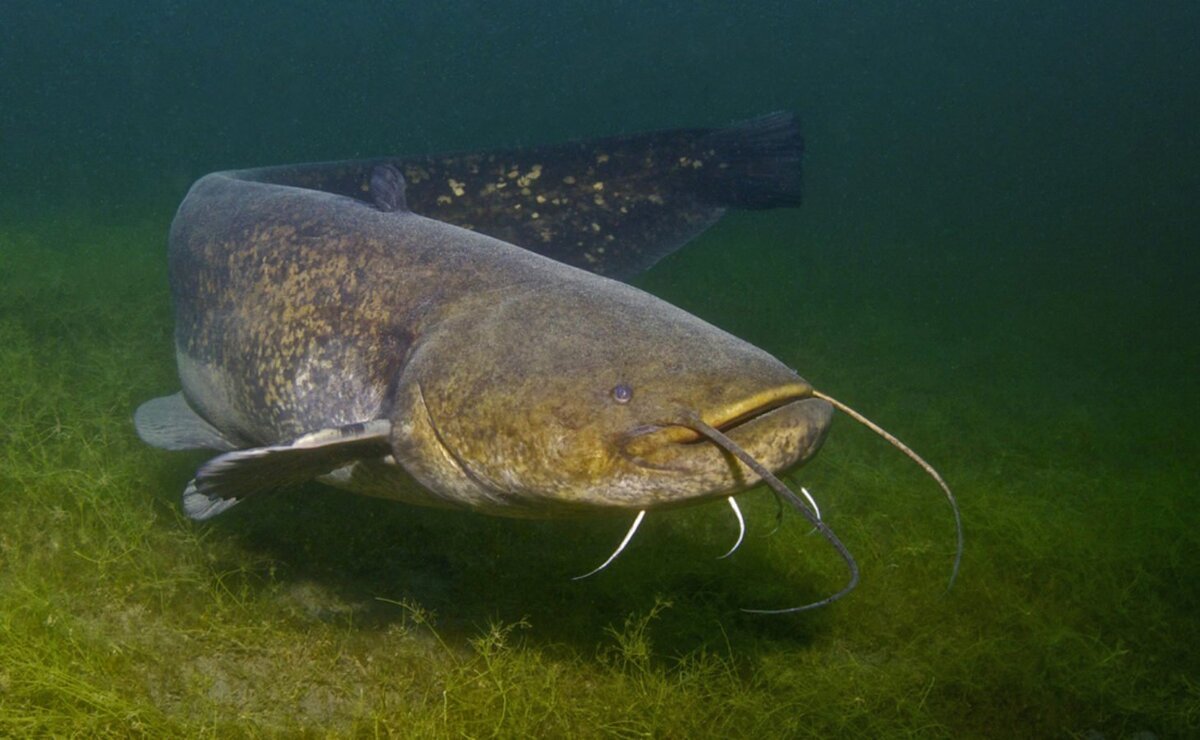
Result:
[[[443,269],[440,239],[397,247],[410,218],[228,173],[197,181],[169,255],[192,408],[247,444],[385,416],[427,307],[478,288],[467,265]]]

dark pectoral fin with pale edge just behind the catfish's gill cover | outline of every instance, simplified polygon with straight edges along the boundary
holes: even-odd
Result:
[[[296,486],[359,459],[391,453],[391,422],[322,429],[287,445],[235,450],[204,463],[184,491],[184,511],[209,519],[241,499]]]

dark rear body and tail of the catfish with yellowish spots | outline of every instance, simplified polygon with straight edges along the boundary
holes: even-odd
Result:
[[[370,201],[371,173],[391,164],[415,213],[625,279],[727,209],[799,205],[803,152],[796,116],[775,113],[727,128],[298,164],[247,176]]]

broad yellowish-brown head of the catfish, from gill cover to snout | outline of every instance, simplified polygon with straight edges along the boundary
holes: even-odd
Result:
[[[395,457],[451,505],[508,516],[678,506],[810,458],[832,407],[768,353],[590,278],[451,312],[397,384]]]

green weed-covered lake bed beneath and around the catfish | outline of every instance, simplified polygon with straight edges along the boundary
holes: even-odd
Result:
[[[846,289],[836,260],[782,257],[786,216],[752,237],[721,227],[647,276],[869,410],[960,497],[967,549],[947,594],[944,500],[835,422],[788,480],[820,498],[863,583],[761,616],[739,608],[844,577],[799,518],[764,536],[767,492],[743,497],[748,540],[727,560],[737,528],[716,503],[648,518],[583,582],[626,521],[493,519],[316,485],[186,521],[178,492],[204,455],[146,449],[130,420],[175,383],[170,207],[0,222],[0,735],[1200,732],[1195,421],[1169,383],[1115,398],[1124,374],[1046,351],[1062,337],[1034,329],[1034,308],[1058,315],[1051,299],[1012,317],[1022,343],[983,319],[959,339],[912,320],[936,312],[887,277]],[[766,285],[785,271],[804,290]],[[1069,300],[1120,331],[1106,303]]]

